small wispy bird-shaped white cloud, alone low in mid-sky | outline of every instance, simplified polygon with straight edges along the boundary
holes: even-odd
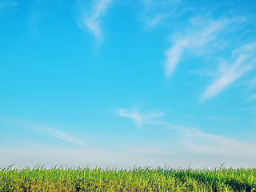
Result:
[[[156,119],[162,117],[165,113],[163,112],[149,112],[149,113],[138,113],[138,108],[134,110],[126,110],[122,108],[117,109],[117,115],[122,118],[130,118],[135,122],[137,126],[142,126],[143,124],[152,124]]]

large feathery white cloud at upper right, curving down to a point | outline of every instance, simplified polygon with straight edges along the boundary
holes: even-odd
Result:
[[[173,46],[170,46],[165,52],[164,70],[166,77],[170,78],[170,75],[173,74],[185,51],[202,55],[206,50],[214,50],[216,45],[220,47],[223,44],[220,40],[222,38],[220,34],[230,34],[231,31],[237,30],[238,24],[243,22],[246,22],[246,18],[221,18],[218,20],[191,18],[190,26],[183,33],[174,35]],[[210,45],[215,46],[213,48]]]

